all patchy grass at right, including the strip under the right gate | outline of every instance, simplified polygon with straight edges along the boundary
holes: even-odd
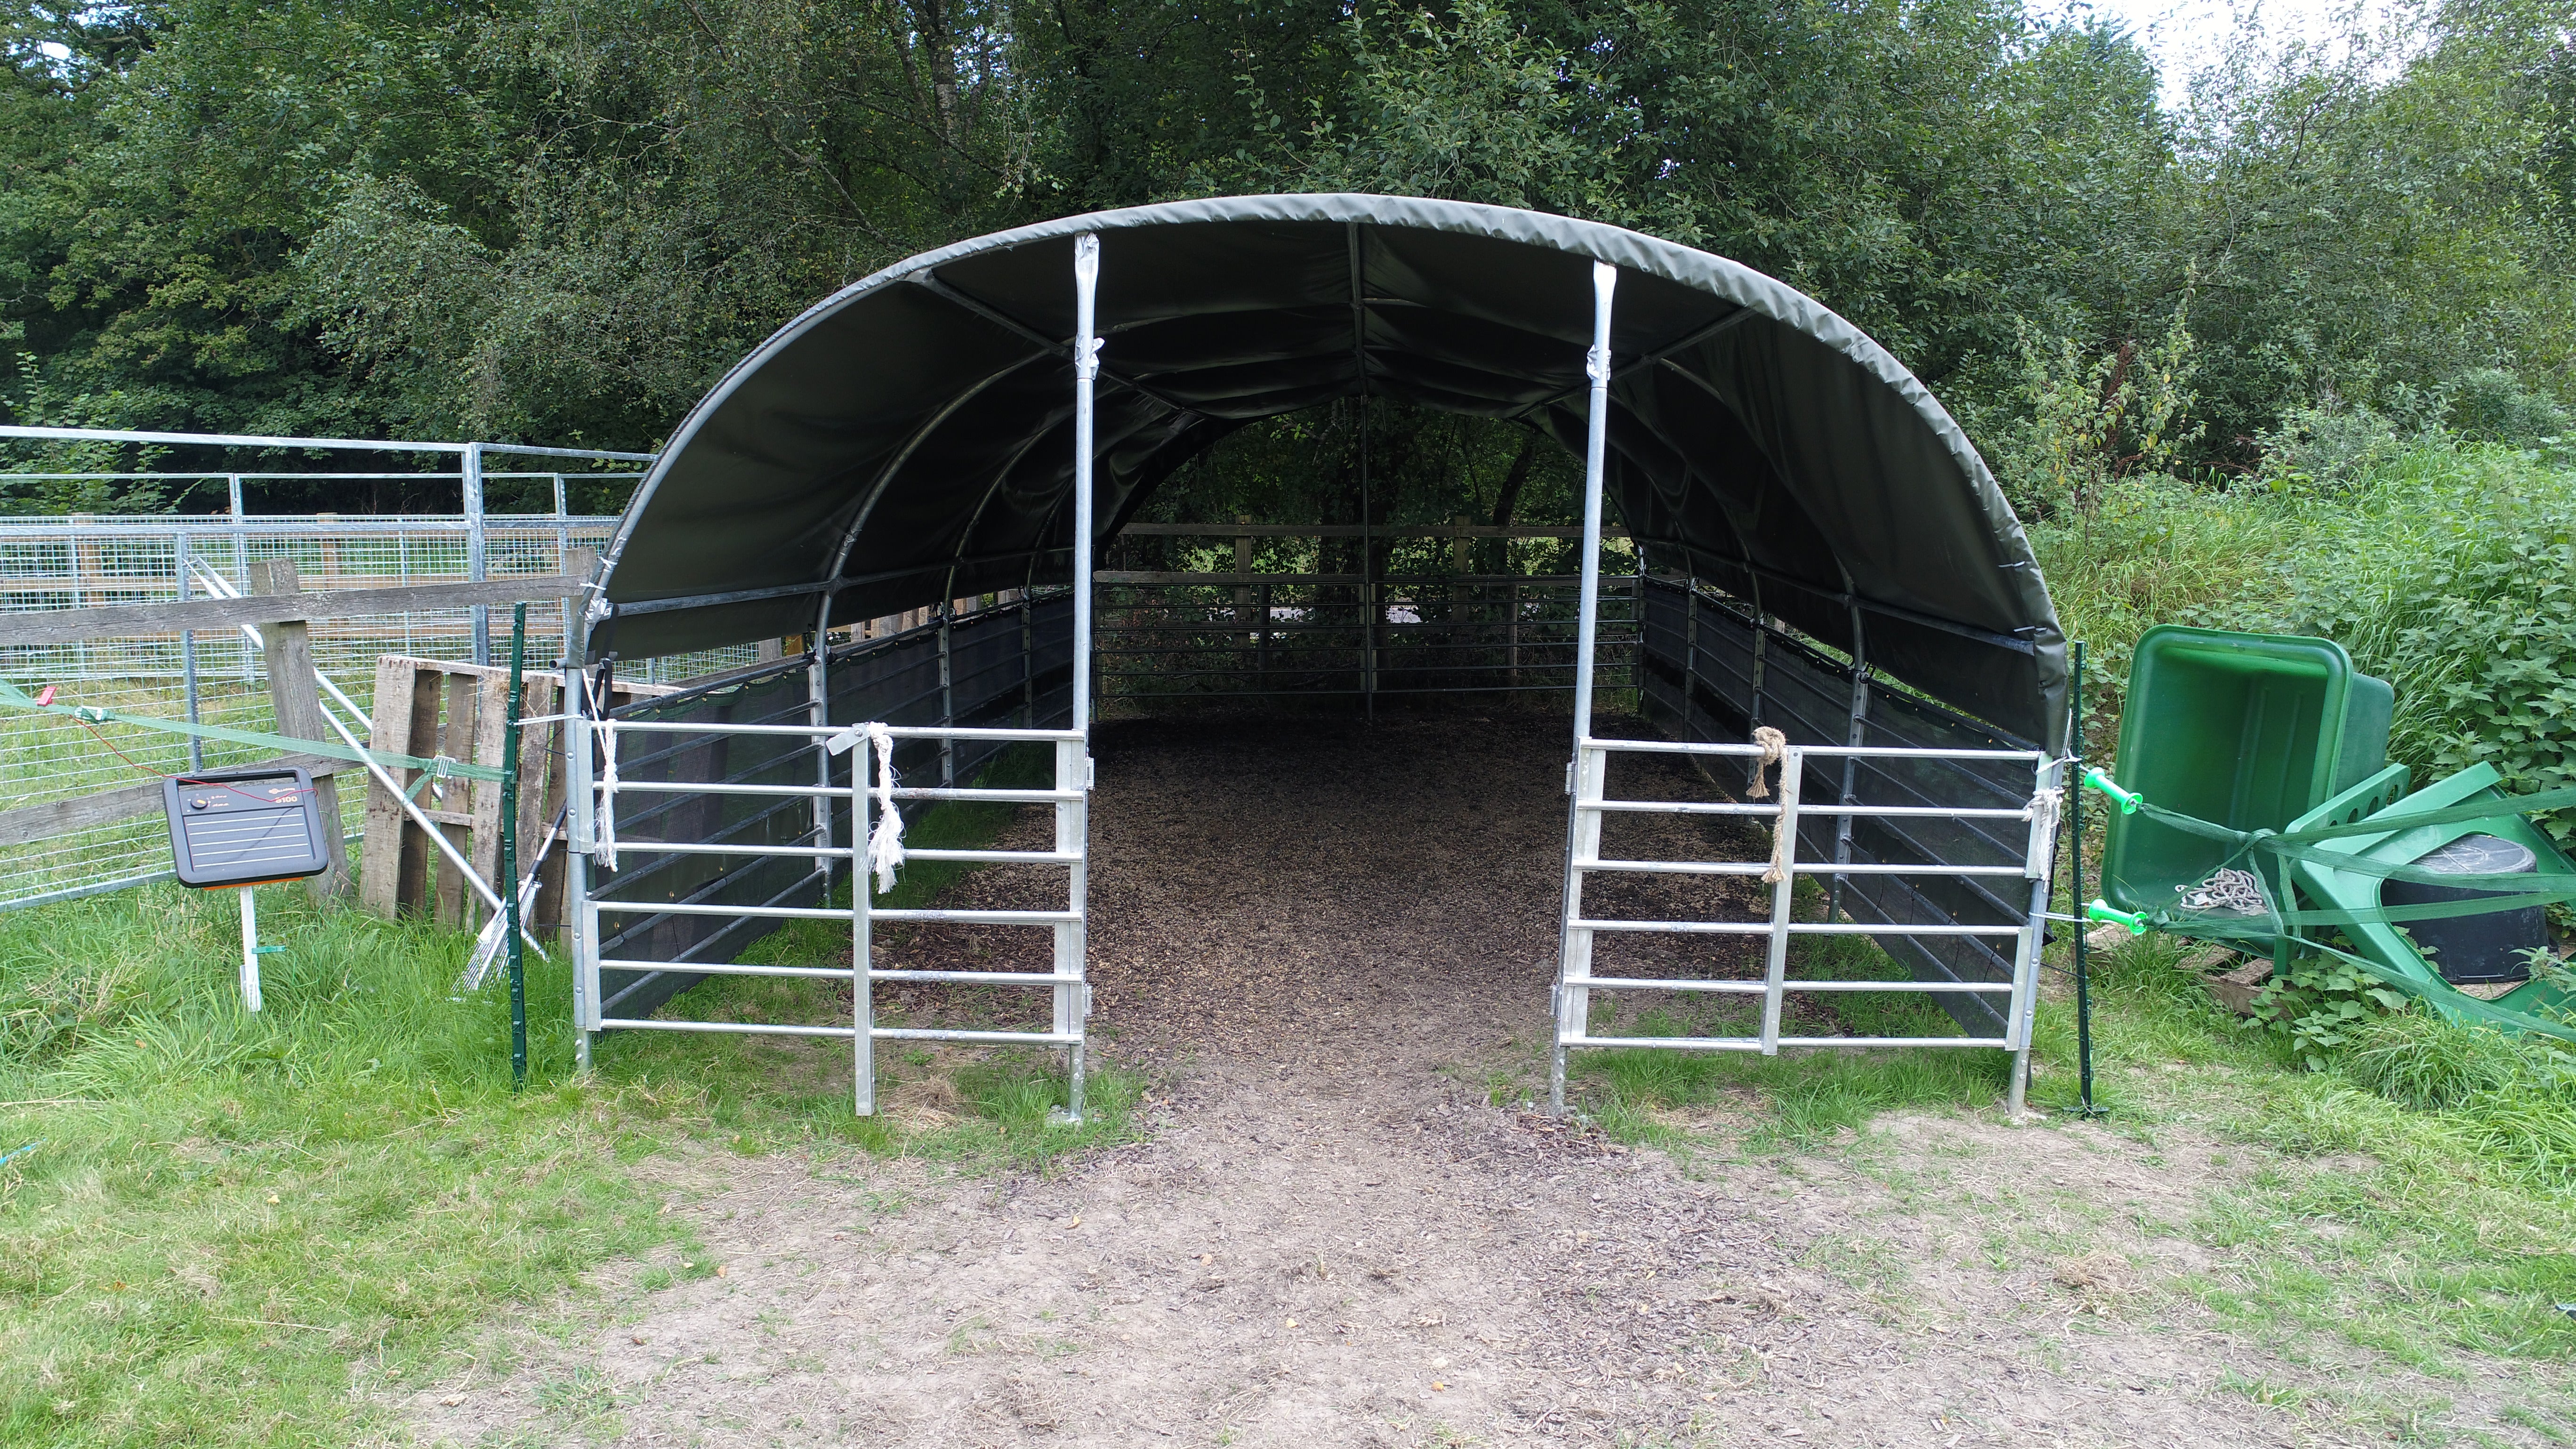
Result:
[[[1798,975],[1893,972],[1860,941],[1801,946],[1832,959]],[[2576,1359],[2563,1307],[2576,1305],[2576,1057],[2398,1013],[2311,1073],[2179,969],[2192,951],[2146,936],[2094,954],[2105,1124],[2151,1150],[2172,1132],[2218,1134],[2267,1163],[2174,1225],[2208,1266],[2172,1289],[2249,1336],[2303,1341],[2303,1354],[2344,1341],[2437,1377],[2499,1361],[2563,1374]],[[1883,1003],[1893,1016],[1873,1031],[1955,1031],[1922,998]],[[1620,1029],[1744,1029],[1710,1011],[1646,1008]],[[2032,1106],[2063,1114],[2076,1098],[2069,1003],[2040,1003],[2032,1057]],[[1880,1111],[1978,1111],[2004,1093],[1999,1052],[1605,1052],[1574,1070],[1577,1101],[1605,1132],[1685,1160],[1754,1150],[1793,1163]],[[2048,1243],[2092,1248],[2081,1235]]]

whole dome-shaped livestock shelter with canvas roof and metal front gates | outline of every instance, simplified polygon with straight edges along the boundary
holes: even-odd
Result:
[[[572,835],[587,861],[623,861],[585,890],[582,1026],[711,1026],[649,1011],[775,915],[837,915],[855,920],[858,975],[840,972],[855,1021],[781,1029],[853,1036],[860,1109],[886,1036],[1064,1044],[1079,1073],[1092,588],[1072,585],[1100,578],[1095,554],[1180,464],[1347,397],[1515,420],[1587,454],[1558,1073],[1566,1047],[1628,1042],[1587,1036],[1584,1003],[1613,980],[1592,975],[1592,941],[1638,931],[1767,946],[1762,980],[1672,987],[1765,1008],[1759,1034],[1698,1044],[1857,1044],[1780,1029],[1785,993],[1834,990],[1793,980],[1790,938],[1834,931],[1875,936],[1968,1031],[1937,1042],[2025,1049],[2066,657],[1968,438],[1886,348],[1757,271],[1618,227],[1388,196],[1177,201],[976,237],[837,291],[732,369],[605,552],[585,657],[781,637],[806,655],[592,724],[603,748],[577,755],[600,779]],[[1618,593],[1636,606],[1633,683],[1674,735],[1656,745],[1589,735],[1605,513],[1638,554]],[[971,598],[989,606],[953,608]],[[1422,624],[1378,580],[1358,598],[1370,647]],[[832,642],[917,608],[938,621]],[[1273,616],[1306,614],[1265,596],[1252,624],[1218,608],[1216,627],[1257,627],[1267,647]],[[1517,590],[1510,616],[1517,639]],[[894,727],[873,750],[850,735],[871,722]],[[935,972],[868,972],[868,892],[827,905],[835,864],[889,807],[974,789],[971,763],[1012,737],[1056,745],[1051,789],[999,797],[1054,804],[1056,848],[987,856],[1061,866],[1069,905],[894,915],[1054,928],[1054,969],[1025,977],[1054,990],[1054,1024],[878,1026],[873,980]],[[1741,797],[1662,804],[1788,825],[1795,846],[1767,861],[1690,864],[1759,877],[1767,920],[1584,915],[1589,874],[1690,874],[1602,856],[1605,817],[1656,804],[1605,794],[1607,761],[1638,750],[1695,753]],[[1747,758],[1721,771],[1723,755]],[[933,758],[940,786],[884,768],[920,779]],[[1832,879],[1821,920],[1793,890],[1808,877]]]

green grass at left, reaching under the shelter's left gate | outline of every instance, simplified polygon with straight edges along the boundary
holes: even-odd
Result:
[[[914,838],[999,825],[956,815],[927,812]],[[907,890],[948,884],[925,877]],[[317,910],[299,887],[263,890],[260,920],[286,949],[263,957],[268,1011],[247,1016],[229,895],[0,915],[0,1152],[33,1142],[0,1165],[0,1444],[384,1434],[376,1390],[495,1315],[649,1250],[714,1271],[662,1212],[657,1181],[690,1160],[1043,1168],[1128,1132],[1136,1098],[1131,1075],[1095,1070],[1090,1122],[1048,1129],[1051,1055],[925,1052],[889,1075],[938,1075],[948,1111],[860,1122],[848,1044],[688,1036],[613,1039],[572,1080],[569,975],[544,959],[531,1083],[513,1091],[502,990],[451,995],[461,936]]]

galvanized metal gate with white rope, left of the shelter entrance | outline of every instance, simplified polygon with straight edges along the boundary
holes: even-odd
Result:
[[[1084,985],[1084,864],[1087,864],[1087,838],[1090,838],[1090,755],[1082,748],[1079,730],[969,730],[969,727],[938,727],[938,724],[886,724],[884,735],[896,740],[935,740],[948,748],[961,743],[974,745],[1020,745],[1020,743],[1046,743],[1054,745],[1054,786],[1048,789],[1002,789],[1002,786],[907,786],[889,784],[878,779],[871,784],[868,750],[863,740],[871,727],[840,727],[840,724],[711,724],[711,722],[636,722],[636,719],[590,719],[587,722],[595,748],[600,773],[585,792],[592,807],[592,835],[590,835],[590,864],[603,869],[616,869],[621,851],[652,853],[652,856],[752,856],[752,859],[809,859],[814,861],[814,887],[793,890],[793,895],[822,897],[829,892],[829,879],[835,866],[848,871],[850,902],[848,905],[786,905],[781,897],[768,902],[706,902],[706,900],[659,900],[639,905],[639,913],[652,915],[721,915],[732,920],[848,920],[850,923],[850,964],[848,967],[786,967],[786,964],[757,964],[757,962],[711,962],[690,959],[675,964],[670,959],[631,959],[631,957],[605,957],[600,951],[600,913],[618,910],[618,902],[600,902],[590,892],[577,892],[580,920],[574,923],[574,1011],[582,1042],[587,1047],[592,1031],[732,1031],[747,1036],[842,1036],[853,1044],[853,1062],[858,1075],[855,1106],[860,1116],[876,1111],[876,1044],[878,1042],[966,1042],[966,1044],[1023,1044],[1023,1047],[1064,1047],[1069,1057],[1069,1088],[1066,1111],[1069,1122],[1082,1119],[1082,1044],[1084,1044],[1084,1018],[1090,1016],[1090,985]],[[690,735],[706,737],[708,743],[721,740],[786,740],[796,753],[809,753],[814,758],[814,784],[788,784],[788,781],[708,781],[708,779],[618,779],[618,743],[639,740],[652,735]],[[853,750],[853,745],[860,745]],[[832,758],[848,758],[848,779],[835,781]],[[587,750],[574,750],[574,758],[587,758]],[[742,843],[724,841],[724,830],[701,830],[696,838],[670,838],[672,830],[659,830],[657,838],[616,838],[616,804],[618,794],[677,794],[677,797],[706,797],[706,799],[752,799],[768,804],[791,804],[796,799],[809,799],[811,830],[804,843]],[[868,877],[868,835],[876,825],[876,812],[886,802],[989,802],[989,804],[1051,804],[1056,815],[1056,841],[1048,851],[938,851],[914,848],[904,851],[909,861],[971,861],[971,864],[1023,864],[1023,866],[1064,866],[1066,869],[1066,902],[1064,910],[933,910],[933,908],[902,908],[884,910],[871,902],[871,877]],[[832,804],[848,804],[848,843],[835,843],[832,830]],[[714,838],[711,838],[714,835]],[[819,879],[817,879],[819,877]],[[873,931],[886,920],[951,920],[974,926],[1030,926],[1054,933],[1054,964],[1046,972],[927,972],[927,969],[878,969],[873,964]],[[850,985],[850,1018],[848,1021],[690,1021],[672,1016],[608,1016],[603,1011],[603,972],[680,972],[688,977],[793,977],[793,980],[827,980]],[[930,1026],[878,1026],[876,1024],[876,982],[935,982],[935,985],[1018,985],[1018,987],[1048,987],[1054,993],[1054,1021],[1046,1031],[966,1031],[966,1029],[930,1029]],[[683,998],[685,1000],[685,998]],[[585,1052],[587,1055],[587,1052]]]

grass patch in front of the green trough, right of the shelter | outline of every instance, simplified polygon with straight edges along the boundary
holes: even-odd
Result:
[[[2571,1060],[2403,1013],[2308,1073],[2177,969],[2182,954],[2148,936],[2094,957],[2097,1101],[2123,1132],[2192,1124],[2285,1158],[2190,1225],[2218,1253],[2190,1292],[2249,1328],[2432,1372],[2458,1372],[2455,1351],[2576,1359],[2561,1307],[2576,1302]]]

